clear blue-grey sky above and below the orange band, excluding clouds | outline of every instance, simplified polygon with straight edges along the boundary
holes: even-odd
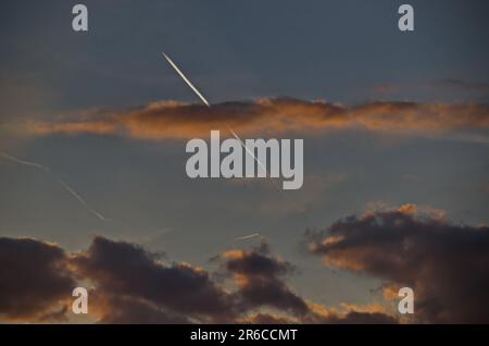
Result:
[[[11,126],[158,100],[198,102],[162,51],[211,103],[277,96],[485,103],[488,1],[82,2],[88,33],[71,28],[75,1],[1,2],[0,148],[52,168],[117,222],[95,220],[49,176],[0,161],[0,235],[79,249],[103,234],[208,265],[236,237],[262,232],[300,267],[297,289],[335,305],[368,301],[378,282],[335,274],[301,254],[306,227],[324,228],[375,203],[413,202],[446,210],[456,222],[488,221],[487,140],[308,135],[304,188],[290,193],[304,214],[265,184],[189,181],[184,141],[33,138]],[[398,29],[403,2],[415,9],[413,33]]]

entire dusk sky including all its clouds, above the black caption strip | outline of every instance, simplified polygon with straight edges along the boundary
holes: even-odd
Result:
[[[0,320],[489,322],[487,1],[83,3],[0,4]],[[189,178],[229,126],[302,188]]]

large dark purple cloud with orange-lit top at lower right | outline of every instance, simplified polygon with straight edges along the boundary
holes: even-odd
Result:
[[[388,299],[412,287],[418,322],[489,322],[487,226],[451,224],[439,212],[406,205],[348,217],[309,237],[310,251],[327,265],[386,281]]]

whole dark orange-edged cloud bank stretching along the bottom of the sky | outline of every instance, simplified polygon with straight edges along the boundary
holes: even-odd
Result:
[[[288,284],[297,268],[266,242],[218,254],[211,272],[101,236],[78,252],[0,238],[0,320],[70,321],[71,292],[82,285],[99,323],[489,323],[487,225],[405,205],[338,220],[308,233],[308,245],[326,265],[379,279],[385,304],[334,308],[302,297]],[[410,317],[396,312],[402,286],[414,289]]]

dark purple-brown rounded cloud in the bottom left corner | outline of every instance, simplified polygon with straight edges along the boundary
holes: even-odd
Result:
[[[0,238],[0,319],[63,320],[76,287],[67,255],[57,245],[29,238]]]

